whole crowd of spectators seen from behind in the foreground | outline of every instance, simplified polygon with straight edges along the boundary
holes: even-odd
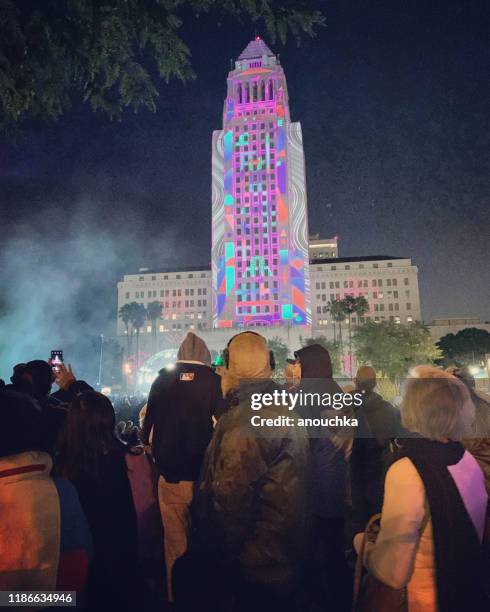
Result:
[[[356,417],[351,435],[286,420],[252,434],[274,365],[258,333],[216,368],[189,332],[130,425],[70,367],[15,366],[0,388],[0,591],[76,591],[89,612],[490,609],[490,399],[468,372],[414,368],[397,409],[362,366],[362,402],[336,411]],[[318,344],[285,378],[345,391]]]

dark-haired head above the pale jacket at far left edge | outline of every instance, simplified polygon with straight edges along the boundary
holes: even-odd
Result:
[[[41,413],[26,395],[0,393],[0,422],[0,457],[46,450]]]

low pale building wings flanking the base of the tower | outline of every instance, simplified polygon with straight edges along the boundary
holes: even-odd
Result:
[[[369,312],[359,321],[356,316],[352,317],[354,325],[368,318],[403,324],[421,320],[418,269],[410,258],[375,255],[316,260],[310,263],[310,279],[312,326],[299,326],[295,330],[287,326],[261,327],[260,333],[280,337],[292,349],[297,348],[300,336],[321,334],[333,338],[334,326],[327,305],[347,295],[363,295],[369,304]],[[150,322],[140,330],[143,350],[178,346],[188,330],[201,333],[213,347],[223,348],[237,333],[235,328],[212,328],[211,269],[208,267],[160,271],[143,268],[137,274],[126,274],[117,287],[118,310],[130,302],[144,306],[153,301],[162,304],[156,343]],[[117,333],[120,337],[126,333],[121,319],[118,319]]]

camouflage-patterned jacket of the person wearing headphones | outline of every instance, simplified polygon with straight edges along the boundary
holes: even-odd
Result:
[[[254,392],[276,388],[265,380]],[[279,426],[273,437],[252,437],[251,414],[250,394],[242,394],[216,425],[193,505],[197,537],[208,562],[235,568],[239,579],[287,584],[305,539],[307,440],[299,428]],[[287,409],[260,412],[281,414]]]

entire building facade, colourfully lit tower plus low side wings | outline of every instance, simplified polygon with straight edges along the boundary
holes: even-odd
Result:
[[[290,119],[278,58],[256,38],[228,75],[223,129],[212,137],[211,266],[127,274],[118,309],[161,302],[156,329],[140,329],[147,353],[175,347],[188,330],[220,350],[237,329],[255,326],[294,348],[300,337],[334,336],[328,303],[346,295],[369,304],[354,324],[421,320],[409,258],[339,257],[336,236],[308,239],[301,126]]]

